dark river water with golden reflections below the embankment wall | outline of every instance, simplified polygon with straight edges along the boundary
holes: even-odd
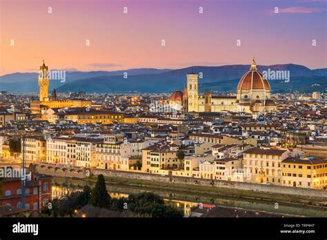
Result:
[[[68,179],[54,177],[52,180],[52,199],[61,197],[83,189],[83,186],[88,185],[92,188],[91,183],[79,179]],[[93,184],[93,183],[92,183]],[[144,192],[145,190],[126,187],[126,186],[110,186],[107,184],[107,190],[112,198],[128,197],[128,194]],[[215,199],[206,197],[197,197],[193,194],[184,194],[180,192],[165,192],[160,190],[150,190],[161,196],[167,204],[174,205],[184,211],[184,216],[190,216],[190,208],[198,206],[199,203],[213,204],[215,206],[224,206],[230,208],[242,208],[245,210],[257,210],[262,212],[274,212],[297,217],[327,217],[327,208],[304,206],[301,204],[283,204],[278,203],[278,208],[273,202],[266,201],[244,201],[217,197]]]

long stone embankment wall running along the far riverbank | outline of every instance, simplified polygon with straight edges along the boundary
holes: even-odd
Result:
[[[170,183],[172,185],[192,185],[192,186],[209,186],[212,188],[232,188],[237,190],[251,190],[254,192],[269,192],[276,194],[288,194],[305,196],[309,198],[326,198],[327,190],[315,190],[310,188],[293,188],[286,186],[266,185],[258,183],[245,183],[238,181],[223,181],[212,179],[195,179],[191,177],[177,177],[170,175],[150,174],[145,172],[124,172],[115,170],[105,170],[97,168],[68,168],[65,166],[52,166],[48,163],[31,164],[30,170],[39,172],[41,174],[49,174],[55,177],[75,177],[80,179],[86,179],[90,175],[103,174],[106,177],[117,177],[125,179],[141,179],[146,181],[159,181],[164,183]]]

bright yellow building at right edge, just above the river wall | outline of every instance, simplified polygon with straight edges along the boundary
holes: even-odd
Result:
[[[282,161],[284,186],[326,188],[327,161],[314,157],[288,157]]]

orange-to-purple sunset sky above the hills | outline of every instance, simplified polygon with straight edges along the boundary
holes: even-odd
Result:
[[[327,68],[327,0],[0,0],[0,39],[0,75],[37,72],[43,59],[82,71],[252,57]]]

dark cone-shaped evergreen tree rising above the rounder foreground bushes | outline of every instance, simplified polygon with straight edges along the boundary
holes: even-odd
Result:
[[[95,183],[95,188],[92,189],[88,203],[99,208],[110,208],[111,197],[107,192],[106,183],[102,174],[98,176],[97,183]]]

